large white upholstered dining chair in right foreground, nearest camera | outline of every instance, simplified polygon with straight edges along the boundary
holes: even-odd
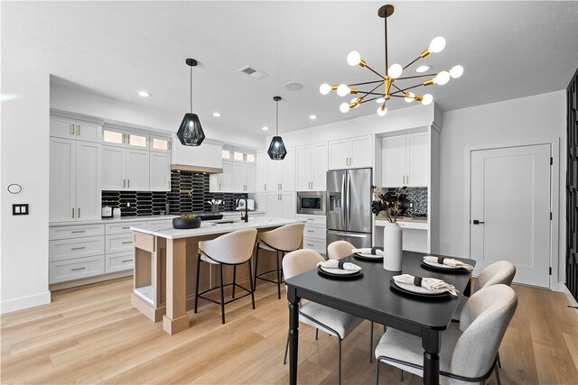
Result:
[[[483,383],[494,371],[499,384],[496,355],[516,307],[516,292],[507,285],[493,285],[474,293],[461,311],[460,326],[451,326],[440,335],[440,382]],[[424,376],[421,337],[390,327],[379,341],[376,359],[376,384],[379,362]]]

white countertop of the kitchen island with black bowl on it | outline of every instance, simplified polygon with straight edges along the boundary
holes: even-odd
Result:
[[[222,221],[222,219],[220,221]],[[154,224],[145,226],[131,226],[130,229],[134,230],[135,232],[160,236],[166,239],[179,239],[187,238],[190,236],[231,233],[236,230],[247,228],[262,229],[267,227],[277,227],[303,221],[298,221],[295,219],[268,218],[266,216],[251,217],[251,214],[249,214],[248,222],[240,220],[235,220],[235,222],[232,224],[218,224],[215,222],[219,222],[219,220],[205,221],[200,224],[199,228],[188,230],[173,229],[172,226],[167,228],[166,225],[162,226]]]

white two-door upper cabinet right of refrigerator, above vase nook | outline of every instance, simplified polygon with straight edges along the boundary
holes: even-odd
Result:
[[[381,144],[383,187],[429,186],[430,151],[427,132],[387,136]]]

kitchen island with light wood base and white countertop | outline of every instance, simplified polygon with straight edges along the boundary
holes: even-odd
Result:
[[[249,221],[217,220],[197,229],[178,230],[167,225],[131,226],[135,245],[135,287],[131,303],[152,321],[163,320],[170,335],[189,327],[187,310],[194,296],[194,269],[199,242],[245,228],[258,232],[298,222],[294,219],[250,217]],[[212,287],[212,267],[201,274],[200,288]],[[238,277],[243,280],[243,277]],[[248,283],[247,283],[248,284]]]

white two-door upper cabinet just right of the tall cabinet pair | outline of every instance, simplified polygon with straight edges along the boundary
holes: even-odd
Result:
[[[102,146],[102,189],[149,191],[149,161],[149,151]]]

